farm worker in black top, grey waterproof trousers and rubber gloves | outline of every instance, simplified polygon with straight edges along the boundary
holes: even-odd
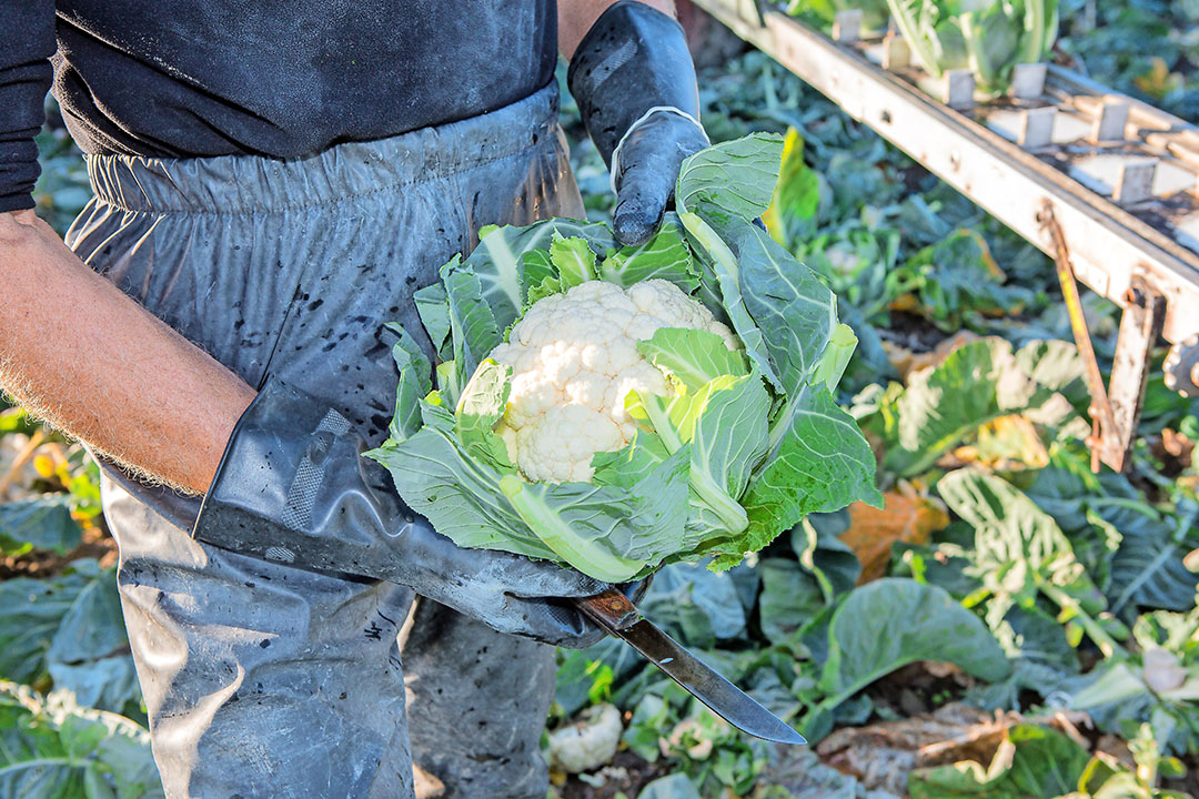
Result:
[[[706,144],[669,5],[0,4],[0,385],[104,464],[169,797],[408,797],[414,763],[546,795],[546,643],[601,635],[554,598],[602,586],[458,549],[359,452],[384,323],[432,355],[414,290],[482,225],[583,216],[559,50],[650,235]],[[95,189],[66,247],[30,196],[52,78]]]

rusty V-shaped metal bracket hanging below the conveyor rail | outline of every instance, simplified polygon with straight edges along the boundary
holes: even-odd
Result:
[[[1083,315],[1083,303],[1078,296],[1078,282],[1070,262],[1066,236],[1054,217],[1053,202],[1048,199],[1038,216],[1043,229],[1053,237],[1058,280],[1066,299],[1070,326],[1086,369],[1086,387],[1091,394],[1091,436],[1086,443],[1091,448],[1091,471],[1098,473],[1099,464],[1107,464],[1116,472],[1125,471],[1129,462],[1137,424],[1145,402],[1145,386],[1149,382],[1150,356],[1162,334],[1165,322],[1165,297],[1155,291],[1143,276],[1133,276],[1125,292],[1125,310],[1120,319],[1116,338],[1116,355],[1111,364],[1109,387],[1103,385],[1091,334]]]

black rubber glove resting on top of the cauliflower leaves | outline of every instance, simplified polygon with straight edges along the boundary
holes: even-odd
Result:
[[[682,28],[643,2],[622,0],[583,38],[567,84],[611,168],[616,238],[640,244],[662,222],[683,158],[709,145]]]

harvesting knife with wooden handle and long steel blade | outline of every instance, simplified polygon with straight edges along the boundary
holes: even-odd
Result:
[[[712,713],[741,732],[781,744],[808,743],[787,722],[647,622],[625,594],[613,588],[574,603],[609,635],[623,638],[688,694],[711,708]]]

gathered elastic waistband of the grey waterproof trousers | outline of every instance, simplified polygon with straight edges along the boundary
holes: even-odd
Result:
[[[151,213],[272,213],[460,174],[554,146],[558,83],[481,116],[294,159],[88,156],[98,201]]]

